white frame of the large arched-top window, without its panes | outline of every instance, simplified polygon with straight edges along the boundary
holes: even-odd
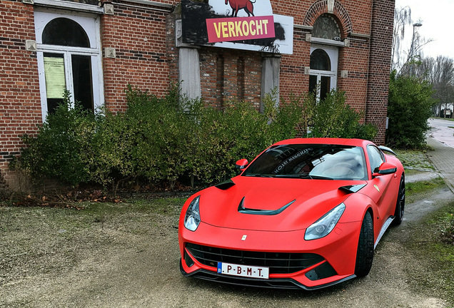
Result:
[[[42,34],[49,21],[63,17],[71,19],[79,24],[86,32],[90,47],[56,46],[44,44]],[[66,89],[74,94],[72,76],[71,55],[91,56],[91,76],[93,86],[94,110],[101,108],[104,104],[104,80],[102,73],[102,53],[99,15],[59,11],[54,9],[39,9],[34,11],[35,35],[36,35],[36,58],[39,71],[39,91],[41,95],[41,115],[46,120],[47,95],[46,78],[44,75],[44,53],[59,53],[64,55]],[[71,95],[71,103],[74,106],[74,96]]]

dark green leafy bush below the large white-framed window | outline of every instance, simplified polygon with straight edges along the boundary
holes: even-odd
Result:
[[[76,185],[90,180],[88,160],[95,130],[94,115],[78,102],[71,108],[69,92],[39,127],[38,138],[24,135],[27,148],[22,151],[20,167],[32,177],[59,178]]]

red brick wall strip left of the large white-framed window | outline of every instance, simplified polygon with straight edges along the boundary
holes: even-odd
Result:
[[[8,164],[23,146],[21,135],[36,133],[42,122],[36,53],[26,51],[28,39],[35,39],[33,6],[0,1],[0,177],[9,183],[15,176]]]

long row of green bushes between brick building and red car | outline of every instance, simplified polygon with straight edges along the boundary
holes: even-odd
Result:
[[[174,85],[158,98],[128,86],[126,112],[104,109],[96,115],[79,103],[71,108],[65,93],[36,138],[24,136],[27,147],[16,165],[34,178],[111,185],[114,190],[136,182],[174,188],[182,178],[209,185],[236,175],[236,160],[251,161],[278,140],[375,134],[373,127],[358,123],[360,115],[345,105],[342,92],[333,91],[320,103],[310,95],[291,96],[280,106],[273,92],[264,99],[261,113],[245,101],[221,111],[189,101],[178,91]]]

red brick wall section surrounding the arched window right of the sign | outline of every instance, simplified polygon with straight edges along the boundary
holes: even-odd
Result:
[[[370,35],[370,16],[372,1],[336,1],[334,14],[337,17],[343,38],[350,34],[350,47],[339,47],[338,88],[345,91],[347,103],[358,111],[365,111],[368,76],[369,40],[357,39],[351,34]],[[276,5],[274,6],[276,8]],[[294,23],[313,26],[318,16],[328,12],[326,0],[298,2],[288,6],[277,6],[273,11],[278,14],[291,14]],[[308,30],[295,29],[293,36],[293,55],[282,56],[281,95],[284,98],[292,91],[296,94],[308,91],[309,76],[304,67],[309,66],[311,43],[306,42]],[[340,71],[348,71],[348,78],[340,78]]]

